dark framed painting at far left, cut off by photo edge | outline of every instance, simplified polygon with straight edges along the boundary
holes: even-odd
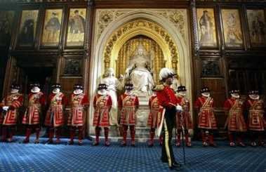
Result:
[[[9,46],[15,11],[0,11],[0,46]]]

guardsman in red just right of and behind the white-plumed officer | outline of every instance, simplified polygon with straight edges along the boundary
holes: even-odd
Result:
[[[185,97],[187,89],[185,86],[178,86],[176,97],[178,99],[178,104],[182,107],[182,112],[176,113],[176,143],[175,145],[180,147],[180,136],[182,128],[184,128],[185,143],[187,147],[191,147],[191,138],[189,137],[189,129],[193,129],[192,119],[189,113],[189,100]]]

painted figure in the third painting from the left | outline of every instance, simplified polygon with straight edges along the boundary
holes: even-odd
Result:
[[[52,13],[52,17],[45,25],[45,29],[47,30],[47,41],[48,42],[55,42],[57,40],[57,33],[60,32],[60,21],[58,19],[58,13]]]

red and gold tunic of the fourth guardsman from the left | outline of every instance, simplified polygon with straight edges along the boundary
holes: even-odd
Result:
[[[67,125],[68,126],[83,126],[86,114],[84,112],[84,106],[88,105],[88,97],[86,94],[74,94],[71,95],[71,110],[69,111]]]

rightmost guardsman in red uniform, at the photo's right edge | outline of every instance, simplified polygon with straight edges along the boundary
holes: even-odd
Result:
[[[257,146],[255,142],[258,138],[258,145],[265,147],[263,134],[266,128],[264,102],[260,98],[258,90],[249,91],[248,99],[245,102],[248,110],[248,130],[251,131],[251,146]]]

